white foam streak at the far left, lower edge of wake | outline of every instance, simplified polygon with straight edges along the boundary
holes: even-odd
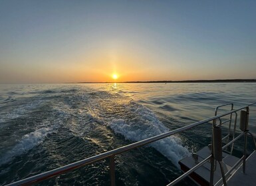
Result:
[[[24,135],[21,140],[13,147],[13,149],[7,151],[0,159],[0,165],[3,165],[11,161],[15,156],[27,153],[33,147],[39,145],[45,140],[47,135],[52,134],[58,128],[57,125],[51,127],[44,127],[35,130],[29,134]]]

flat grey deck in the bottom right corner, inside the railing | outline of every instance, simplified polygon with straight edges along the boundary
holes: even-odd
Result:
[[[246,160],[245,174],[243,165],[227,181],[227,185],[255,185],[256,184],[256,151],[253,151]]]

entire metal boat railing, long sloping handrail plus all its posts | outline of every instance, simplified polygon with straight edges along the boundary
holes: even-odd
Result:
[[[253,104],[256,104],[253,103]],[[45,173],[40,173],[38,175],[34,175],[32,177],[28,177],[28,178],[25,178],[25,179],[22,179],[20,181],[16,181],[16,182],[13,182],[13,183],[10,183],[9,185],[31,185],[33,183],[38,183],[40,181],[43,181],[45,179],[50,179],[52,177],[56,177],[57,175],[61,175],[63,173],[66,173],[68,171],[72,171],[74,169],[78,169],[79,167],[82,167],[84,165],[88,165],[88,164],[91,164],[91,163],[94,163],[96,161],[101,161],[101,160],[104,160],[104,159],[107,159],[109,158],[110,159],[110,183],[111,185],[115,185],[115,156],[116,155],[119,155],[121,153],[124,153],[126,151],[130,151],[131,149],[135,149],[135,148],[138,148],[138,147],[142,147],[144,145],[147,145],[149,143],[153,143],[154,141],[158,141],[158,140],[162,140],[164,138],[167,138],[167,137],[170,137],[174,134],[178,134],[180,132],[184,132],[186,130],[189,130],[191,128],[194,128],[196,126],[200,126],[202,124],[205,124],[205,123],[209,123],[209,122],[213,122],[213,132],[215,131],[215,128],[219,129],[221,128],[221,124],[223,124],[223,122],[221,122],[221,118],[223,118],[224,116],[229,116],[231,114],[235,114],[235,120],[237,119],[237,112],[241,111],[241,110],[244,110],[246,109],[246,118],[245,119],[245,126],[248,125],[248,123],[246,124],[246,122],[248,122],[248,117],[249,117],[249,106],[252,106],[253,104],[249,104],[247,106],[243,106],[241,108],[237,108],[237,109],[233,109],[233,104],[232,104],[232,108],[231,110],[229,110],[228,112],[225,112],[225,113],[222,113],[222,114],[217,114],[217,112],[215,112],[216,116],[213,116],[211,118],[207,118],[205,120],[201,120],[199,122],[195,122],[193,124],[190,124],[188,126],[184,126],[182,128],[178,128],[176,130],[172,130],[170,132],[166,132],[164,134],[160,134],[158,136],[154,136],[152,138],[147,138],[145,140],[141,140],[141,141],[137,141],[135,143],[131,143],[129,145],[125,145],[123,147],[119,147],[117,149],[112,149],[110,151],[106,151],[104,153],[100,153],[98,155],[94,155],[92,157],[88,157],[86,159],[82,159],[80,161],[76,161],[74,163],[70,163],[68,165],[64,165],[63,167],[59,167],[57,169],[53,169],[51,171],[47,171]],[[244,115],[244,114],[243,114]],[[244,117],[244,116],[243,116]],[[231,116],[229,118],[231,120]],[[216,120],[219,120],[220,123],[219,125],[216,124]],[[236,125],[236,124],[235,124]],[[243,127],[243,126],[242,126]],[[240,127],[241,129],[241,127]],[[218,153],[221,153],[220,151],[219,152],[216,152],[214,149],[216,148],[221,148],[221,149],[225,149],[228,145],[231,145],[233,144],[236,140],[238,140],[239,138],[241,138],[242,136],[245,136],[245,144],[247,143],[247,134],[250,134],[252,136],[251,133],[249,133],[249,130],[247,130],[247,127],[243,128],[244,131],[242,134],[240,134],[239,136],[237,136],[236,138],[233,138],[233,140],[229,141],[226,145],[224,145],[223,147],[221,147],[221,142],[220,144],[215,144],[215,143],[212,143],[212,150],[211,150],[211,155],[209,155],[207,158],[205,158],[203,161],[201,161],[200,163],[198,163],[197,165],[195,165],[195,167],[193,167],[192,169],[190,169],[189,171],[187,171],[186,173],[182,174],[180,177],[178,177],[177,179],[175,179],[174,181],[172,181],[172,183],[168,184],[168,185],[174,185],[176,183],[178,183],[179,181],[181,181],[182,179],[184,179],[185,177],[188,177],[188,175],[190,175],[190,173],[192,173],[193,171],[195,171],[195,169],[201,167],[204,163],[206,163],[209,159],[211,159],[211,182],[210,182],[210,185],[213,185],[213,167],[215,166],[214,164],[214,161],[213,159],[217,159],[217,156],[219,157],[219,154]],[[217,131],[217,130],[216,130]],[[219,135],[219,133],[217,132],[217,135],[216,135],[219,139],[219,136],[221,137],[221,135]],[[253,136],[252,136],[253,137]],[[220,138],[220,141],[222,140],[222,138]],[[254,138],[253,138],[254,140]],[[215,139],[215,135],[213,135],[213,139],[212,141],[216,141]],[[255,143],[255,140],[254,140],[254,143]],[[255,147],[256,147],[256,143],[255,143]],[[246,158],[246,145],[245,145],[245,149],[243,151],[243,157],[239,160],[238,163],[236,163],[235,165],[239,165],[239,163],[241,161],[243,161],[243,165],[244,165],[244,168],[245,168],[245,158]],[[218,160],[218,159],[217,159]],[[219,161],[221,163],[221,161]],[[235,166],[234,166],[235,167]],[[245,170],[244,170],[245,171]],[[229,171],[231,172],[231,171]],[[227,175],[227,173],[226,173]],[[219,181],[219,183],[221,182],[221,180]],[[225,184],[225,175],[223,174],[223,182]]]

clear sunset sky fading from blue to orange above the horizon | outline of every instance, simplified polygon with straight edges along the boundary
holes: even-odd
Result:
[[[0,0],[0,83],[256,78],[256,1]]]

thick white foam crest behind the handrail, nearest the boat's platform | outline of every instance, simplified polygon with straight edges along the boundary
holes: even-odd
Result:
[[[118,119],[110,122],[109,126],[116,134],[122,134],[128,140],[140,141],[169,131],[148,108],[137,104],[132,106],[130,110],[134,112],[135,118],[131,120]],[[178,166],[180,159],[190,153],[186,147],[182,146],[182,140],[178,136],[170,136],[150,145],[176,166]]]

